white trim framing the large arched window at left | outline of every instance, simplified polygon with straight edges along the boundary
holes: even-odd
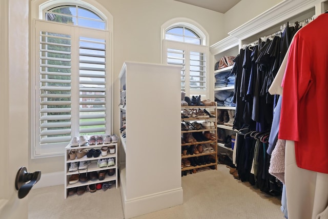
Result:
[[[36,139],[35,139],[35,131],[36,131],[36,122],[32,121],[35,118],[35,113],[36,113],[36,109],[35,109],[35,101],[36,99],[35,97],[35,72],[36,68],[38,68],[38,66],[35,66],[35,52],[36,52],[36,44],[35,44],[35,21],[42,18],[42,14],[44,13],[43,10],[46,10],[46,8],[51,7],[56,7],[59,6],[60,4],[72,4],[72,5],[78,5],[84,8],[88,8],[91,11],[96,12],[98,15],[101,16],[101,18],[103,18],[106,22],[106,28],[108,31],[108,35],[109,35],[109,39],[108,39],[108,48],[110,48],[109,50],[106,50],[106,57],[108,57],[106,59],[106,81],[108,82],[107,84],[107,89],[108,90],[108,95],[106,96],[109,101],[106,102],[106,108],[107,109],[111,109],[111,113],[110,114],[106,114],[106,121],[110,121],[109,126],[106,127],[106,133],[109,133],[110,131],[113,130],[113,113],[114,110],[113,109],[113,82],[114,82],[114,67],[113,67],[113,16],[104,8],[104,6],[100,5],[99,3],[97,3],[96,1],[93,0],[85,0],[85,2],[83,1],[79,1],[79,0],[50,0],[50,1],[45,1],[45,0],[32,0],[31,1],[31,20],[30,20],[30,24],[31,24],[31,29],[30,29],[30,61],[29,64],[31,66],[30,68],[30,75],[31,75],[31,90],[30,90],[30,98],[31,98],[31,120],[30,120],[30,127],[31,130],[30,131],[30,145],[31,145],[31,159],[34,158],[45,158],[45,157],[52,157],[52,156],[62,156],[64,155],[64,149],[62,147],[52,147],[50,150],[46,149],[44,150],[44,148],[42,150],[38,150],[38,153],[36,152],[36,148],[38,147],[38,149],[40,149],[41,147],[37,144],[36,145]],[[101,8],[101,11],[99,10],[99,8]],[[48,21],[43,21],[43,22],[48,22]],[[63,24],[63,25],[68,25],[68,24]],[[83,27],[86,28],[86,27]],[[88,29],[88,28],[87,28]],[[77,112],[78,113],[78,112]]]

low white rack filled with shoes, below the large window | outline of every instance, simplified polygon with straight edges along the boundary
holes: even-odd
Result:
[[[82,138],[81,138],[82,139]],[[84,138],[86,143],[87,137]],[[106,191],[108,188],[118,186],[117,172],[117,143],[108,142],[108,136],[95,136],[88,138],[83,146],[65,148],[65,198],[73,194],[82,194],[85,191],[94,192],[91,188],[97,186]],[[94,143],[94,145],[93,145]],[[103,143],[103,144],[100,144]],[[81,191],[80,193],[76,192]]]

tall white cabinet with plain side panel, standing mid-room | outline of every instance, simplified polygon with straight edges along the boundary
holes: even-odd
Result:
[[[180,205],[181,67],[125,62],[119,177],[125,218]],[[124,122],[125,121],[125,122]]]

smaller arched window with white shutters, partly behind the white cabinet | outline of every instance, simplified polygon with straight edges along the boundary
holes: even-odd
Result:
[[[187,95],[208,96],[209,46],[206,31],[187,18],[176,18],[162,25],[162,62],[181,65],[181,90]]]

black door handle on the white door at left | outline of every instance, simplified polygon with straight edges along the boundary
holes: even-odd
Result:
[[[41,178],[41,171],[27,172],[26,167],[20,167],[16,174],[15,187],[18,198],[24,198]],[[28,182],[28,183],[27,183]]]

